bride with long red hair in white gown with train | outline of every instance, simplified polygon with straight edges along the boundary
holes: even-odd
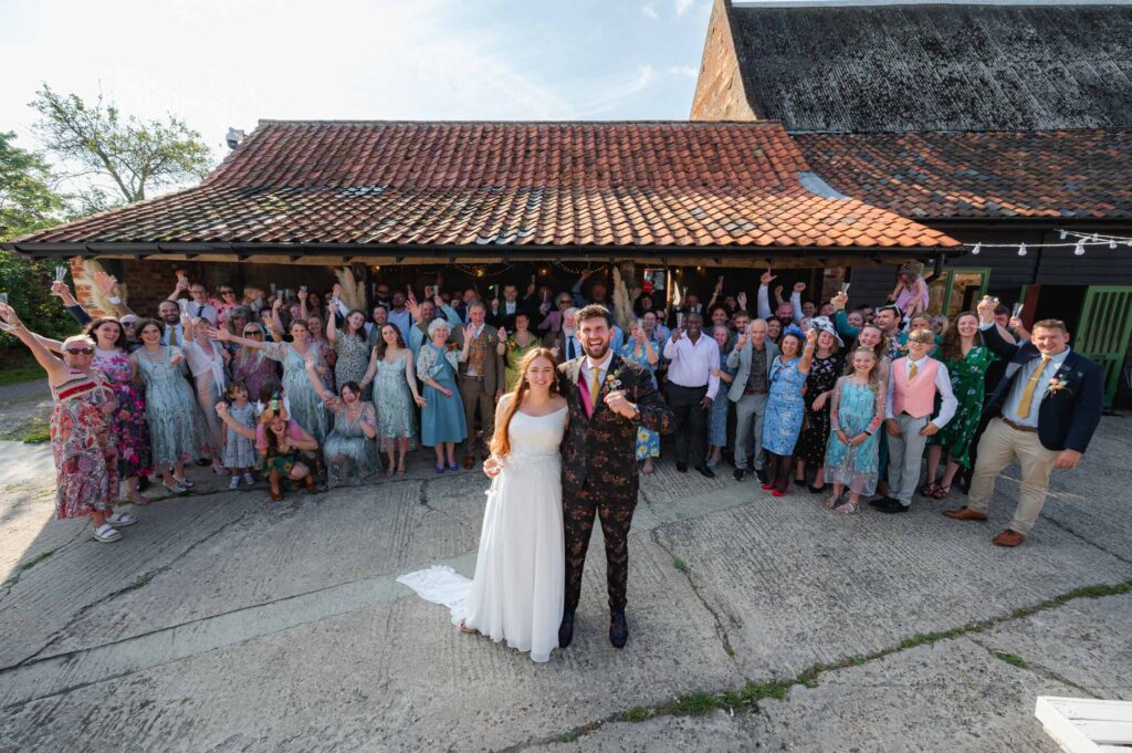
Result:
[[[469,581],[436,565],[397,579],[421,598],[447,606],[462,631],[507,641],[530,651],[533,661],[550,659],[563,617],[558,446],[569,412],[558,394],[556,367],[550,350],[531,351],[520,365],[515,390],[499,401],[491,456],[483,463],[491,487],[475,576]]]

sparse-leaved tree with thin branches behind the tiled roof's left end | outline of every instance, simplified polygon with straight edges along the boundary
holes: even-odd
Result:
[[[199,180],[212,168],[212,152],[200,134],[174,115],[164,121],[123,117],[102,95],[87,104],[46,84],[31,106],[41,115],[35,131],[44,148],[78,168],[68,177],[109,179],[127,204],[140,202],[151,190]],[[100,198],[104,205],[105,197]]]

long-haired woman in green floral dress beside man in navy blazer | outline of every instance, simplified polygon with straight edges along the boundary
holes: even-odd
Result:
[[[943,333],[936,358],[947,367],[959,408],[954,418],[928,439],[927,482],[920,494],[943,499],[951,493],[951,482],[960,467],[970,468],[971,438],[983,413],[983,383],[987,368],[997,357],[983,344],[978,316],[963,311]],[[943,478],[936,481],[935,474],[944,453],[947,467]]]

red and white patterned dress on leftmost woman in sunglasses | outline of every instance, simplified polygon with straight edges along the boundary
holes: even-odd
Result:
[[[52,386],[51,450],[55,459],[55,516],[106,512],[118,497],[118,452],[103,413],[112,390],[97,370],[71,370]]]

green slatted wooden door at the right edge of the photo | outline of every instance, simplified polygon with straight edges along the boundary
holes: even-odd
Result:
[[[1132,285],[1089,285],[1071,343],[1105,371],[1105,408],[1113,404],[1132,333]]]

